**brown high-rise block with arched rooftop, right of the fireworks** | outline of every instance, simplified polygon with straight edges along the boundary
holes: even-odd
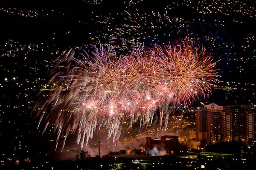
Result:
[[[196,114],[196,140],[207,143],[249,141],[255,136],[254,107],[204,105]]]

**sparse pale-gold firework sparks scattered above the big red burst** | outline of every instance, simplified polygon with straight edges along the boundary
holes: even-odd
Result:
[[[169,17],[166,12],[140,13],[124,11],[124,22],[110,30],[109,43],[122,49],[153,47],[177,40],[188,26],[183,18]]]

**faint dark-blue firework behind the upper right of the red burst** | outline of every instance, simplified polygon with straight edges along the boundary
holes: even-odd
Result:
[[[234,43],[221,27],[223,26],[214,20],[207,22],[204,17],[199,17],[189,22],[189,26],[183,30],[183,33],[184,37],[197,41],[196,45],[206,48],[214,61],[221,58],[218,68],[221,69],[220,74],[223,78],[230,76],[230,65],[237,67],[237,63],[234,62],[237,56],[232,50],[235,47]]]

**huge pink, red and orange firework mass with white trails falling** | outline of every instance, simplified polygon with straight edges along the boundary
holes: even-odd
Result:
[[[156,111],[160,128],[165,128],[170,106],[188,106],[191,100],[211,92],[218,81],[215,62],[204,50],[197,52],[191,42],[155,46],[147,51],[134,49],[118,56],[113,46],[95,48],[83,60],[70,50],[53,66],[49,82],[52,91],[35,107],[41,122],[55,124],[57,144],[60,136],[77,133],[77,144],[88,144],[93,132],[108,129],[115,142],[123,122],[150,126]],[[72,62],[73,61],[73,62]],[[57,148],[57,145],[56,145]]]

